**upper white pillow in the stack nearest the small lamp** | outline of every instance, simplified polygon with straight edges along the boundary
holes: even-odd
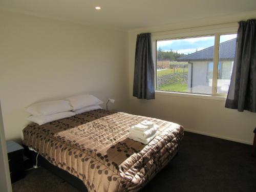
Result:
[[[97,97],[94,97],[93,95],[89,95],[89,94],[69,97],[66,100],[68,100],[70,102],[71,106],[73,106],[74,111],[84,108],[86,106],[92,106],[92,105],[103,103]]]

